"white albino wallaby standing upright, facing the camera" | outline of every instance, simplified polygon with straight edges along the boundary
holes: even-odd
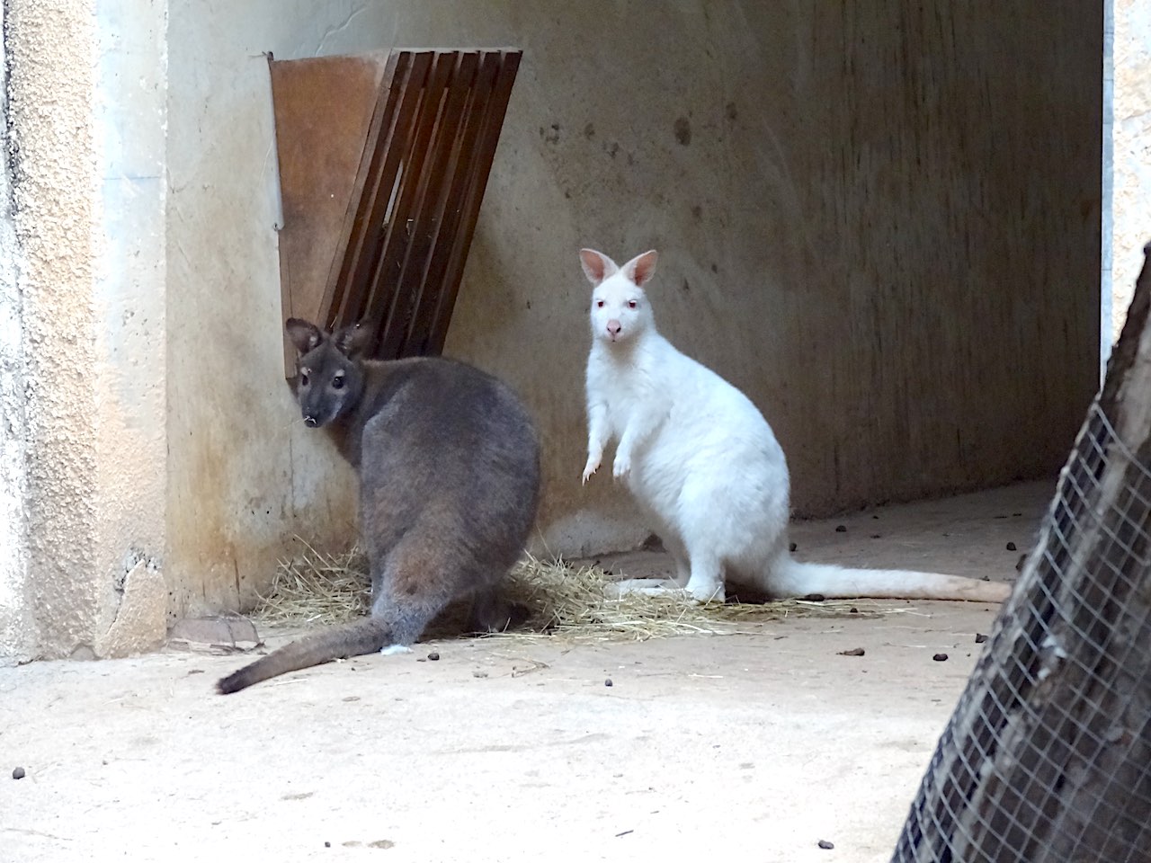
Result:
[[[676,562],[677,583],[723,601],[724,581],[772,597],[1001,602],[1008,585],[906,570],[851,570],[794,560],[787,550],[784,451],[750,399],[660,335],[643,285],[656,253],[623,267],[580,251],[592,293],[587,466],[618,441],[612,474],[647,510]]]

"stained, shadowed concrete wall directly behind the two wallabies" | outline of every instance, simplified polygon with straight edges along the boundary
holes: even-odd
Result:
[[[540,419],[550,550],[643,532],[578,481],[581,245],[661,250],[663,330],[761,405],[801,513],[1061,464],[1097,381],[1102,7],[860,6],[170,0],[171,613],[355,520],[281,376],[268,51],[525,49],[447,350]]]

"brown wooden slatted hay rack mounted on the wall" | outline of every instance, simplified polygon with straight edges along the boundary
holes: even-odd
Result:
[[[521,55],[269,60],[285,318],[364,322],[374,358],[443,350]]]

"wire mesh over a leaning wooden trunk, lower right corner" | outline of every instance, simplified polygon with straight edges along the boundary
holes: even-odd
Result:
[[[893,863],[1151,861],[1146,266],[1139,288]]]

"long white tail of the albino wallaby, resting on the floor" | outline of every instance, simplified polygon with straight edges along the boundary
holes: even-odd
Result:
[[[801,563],[783,556],[772,567],[769,588],[776,596],[820,594],[829,599],[968,599],[1003,602],[1012,586],[962,575],[912,570],[848,570],[833,564]]]

